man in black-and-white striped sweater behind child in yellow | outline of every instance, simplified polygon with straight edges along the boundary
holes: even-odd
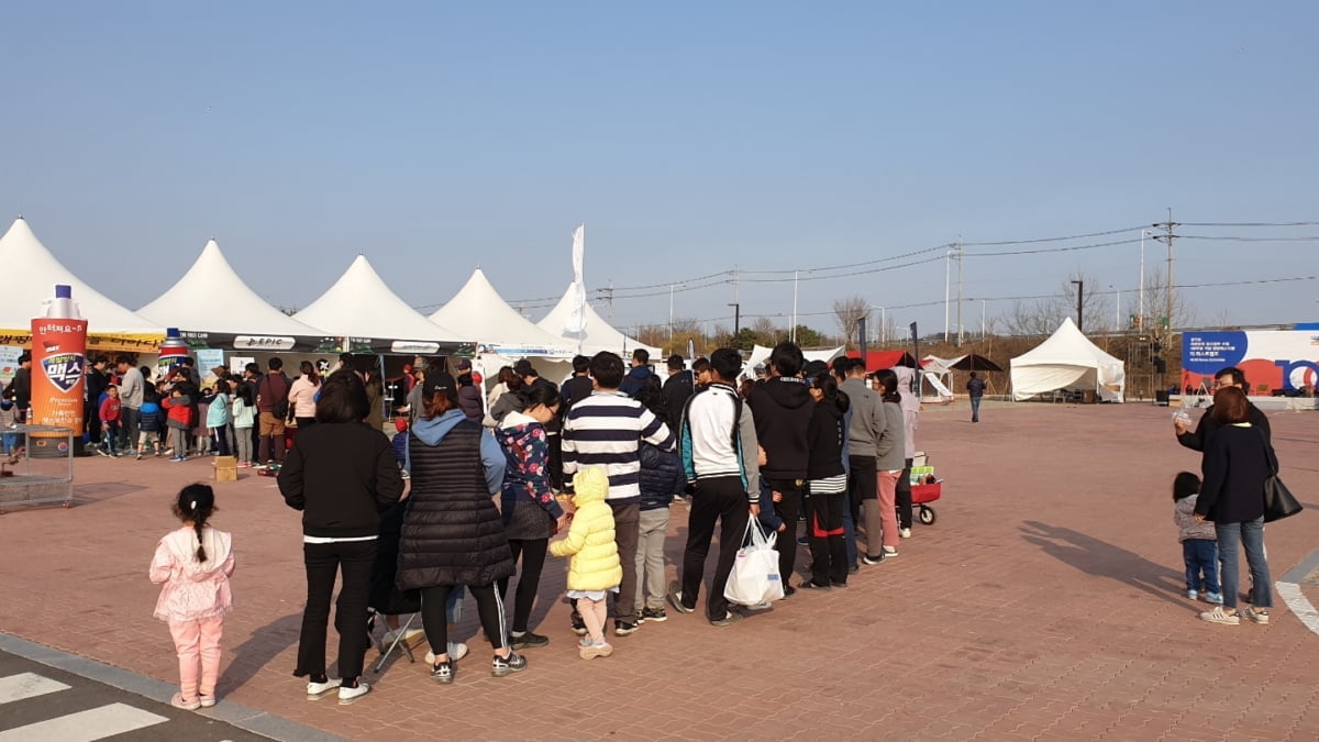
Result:
[[[609,474],[605,502],[613,510],[613,533],[623,562],[623,582],[615,603],[615,636],[637,630],[637,539],[641,524],[640,441],[673,450],[674,436],[640,401],[619,391],[623,359],[604,351],[591,359],[595,391],[574,404],[563,419],[563,481],[571,487],[572,475],[583,466],[603,466]],[[574,610],[572,630],[586,632]]]

